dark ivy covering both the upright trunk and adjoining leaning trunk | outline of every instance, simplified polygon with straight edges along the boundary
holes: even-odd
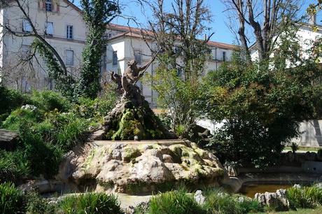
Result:
[[[83,65],[80,78],[76,80],[62,68],[57,57],[43,41],[34,40],[33,48],[38,50],[48,67],[49,76],[55,81],[55,88],[71,99],[89,97],[94,99],[100,90],[100,61],[106,45],[106,25],[120,14],[117,1],[82,0],[83,19],[88,28],[85,48],[82,53]]]

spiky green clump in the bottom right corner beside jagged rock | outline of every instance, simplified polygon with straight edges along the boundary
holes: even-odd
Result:
[[[316,186],[290,187],[286,195],[295,208],[315,208],[322,205],[322,188]]]

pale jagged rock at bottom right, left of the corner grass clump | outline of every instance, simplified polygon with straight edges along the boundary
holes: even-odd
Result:
[[[269,206],[275,211],[288,211],[290,201],[286,197],[286,190],[276,190],[276,192],[256,193],[255,200],[262,206]]]

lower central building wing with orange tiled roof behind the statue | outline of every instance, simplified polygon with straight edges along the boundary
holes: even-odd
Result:
[[[116,73],[123,73],[127,68],[127,62],[136,59],[138,66],[146,64],[152,56],[152,52],[144,38],[141,36],[141,29],[133,27],[125,27],[116,24],[111,24],[107,30],[109,35],[109,43],[106,48],[106,70]],[[230,61],[232,52],[235,49],[234,45],[225,43],[217,43],[209,41],[211,53],[209,60],[206,62],[205,71],[214,71],[225,61]],[[151,43],[149,44],[151,45]],[[153,75],[153,71],[158,66],[158,62],[153,62],[148,67],[147,73]],[[180,71],[179,71],[180,72]],[[141,85],[142,94],[151,106],[156,106],[158,95],[146,85]]]

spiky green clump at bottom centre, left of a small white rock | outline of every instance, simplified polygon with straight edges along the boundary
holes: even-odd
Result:
[[[151,214],[198,214],[204,213],[192,195],[183,190],[165,192],[151,198],[148,213]]]

